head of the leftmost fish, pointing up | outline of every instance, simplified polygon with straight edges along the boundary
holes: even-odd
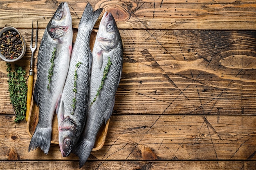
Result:
[[[72,17],[67,2],[61,2],[47,25],[53,39],[58,39],[72,29]]]

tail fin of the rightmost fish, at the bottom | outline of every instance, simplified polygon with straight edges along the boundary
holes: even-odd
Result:
[[[94,142],[88,141],[87,139],[83,139],[80,143],[76,145],[74,150],[72,151],[76,156],[79,157],[79,168],[87,161],[92,149],[94,146]]]

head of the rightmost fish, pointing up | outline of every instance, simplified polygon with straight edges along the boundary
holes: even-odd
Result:
[[[103,51],[111,51],[117,46],[119,39],[121,37],[115,19],[111,13],[106,11],[101,19],[97,34],[99,46]]]

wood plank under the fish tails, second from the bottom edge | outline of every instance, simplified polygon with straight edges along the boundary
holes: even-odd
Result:
[[[28,152],[26,122],[0,116],[0,160],[78,160],[52,144]],[[256,160],[256,116],[113,115],[106,142],[88,160]]]

